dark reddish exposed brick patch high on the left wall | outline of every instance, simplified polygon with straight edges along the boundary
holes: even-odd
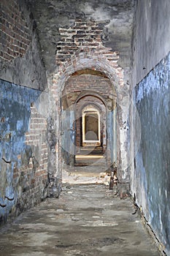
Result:
[[[22,57],[31,42],[26,19],[20,11],[18,1],[1,0],[1,59],[11,61]]]

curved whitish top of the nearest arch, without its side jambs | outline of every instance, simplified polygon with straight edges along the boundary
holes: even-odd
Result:
[[[66,80],[74,74],[74,72],[83,69],[92,69],[103,73],[110,82],[116,94],[123,87],[123,69],[118,66],[117,61],[119,54],[112,52],[107,48],[98,48],[97,50],[85,50],[80,48],[72,56],[67,63],[61,64],[58,67],[58,72],[53,77],[53,88],[52,91],[58,93],[63,91]]]

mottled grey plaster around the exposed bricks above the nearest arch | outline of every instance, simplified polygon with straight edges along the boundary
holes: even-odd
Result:
[[[83,23],[84,20],[91,19],[98,21],[98,32],[104,28],[104,21],[106,26],[101,34],[98,33],[98,37],[101,37],[105,47],[111,48],[112,51],[119,51],[119,65],[125,70],[125,77],[127,75],[126,79],[128,80],[134,0],[26,1],[30,4],[34,19],[36,20],[45,67],[49,74],[53,74],[56,71],[55,50],[59,46],[58,42],[61,41],[60,29],[67,31],[69,27],[75,24],[76,20],[82,20]],[[78,26],[75,26],[75,29],[79,27],[78,29],[81,29],[82,33],[84,30],[85,34],[85,26],[82,24],[81,29],[78,24]],[[94,26],[96,25],[94,24]],[[96,34],[96,31],[90,31],[89,29],[88,33],[91,32]],[[91,34],[94,37],[93,33]],[[78,36],[81,40],[81,32]],[[92,43],[93,37],[90,37]],[[70,44],[72,42],[71,40]]]

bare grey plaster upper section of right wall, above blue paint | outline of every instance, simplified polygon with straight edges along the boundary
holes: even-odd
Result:
[[[134,85],[169,53],[170,1],[136,1],[134,20]]]

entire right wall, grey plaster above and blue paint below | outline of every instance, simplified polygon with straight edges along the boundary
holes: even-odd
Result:
[[[131,108],[131,191],[170,255],[170,2],[136,2]]]

